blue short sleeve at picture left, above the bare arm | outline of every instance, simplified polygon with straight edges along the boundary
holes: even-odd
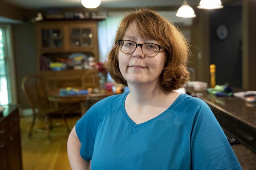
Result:
[[[94,142],[99,126],[97,109],[91,107],[76,123],[76,133],[81,142],[80,155],[89,161],[92,158]]]

